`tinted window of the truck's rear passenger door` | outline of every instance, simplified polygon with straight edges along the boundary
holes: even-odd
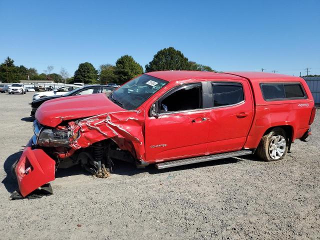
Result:
[[[239,82],[212,82],[213,106],[227,106],[244,100],[243,87]]]

